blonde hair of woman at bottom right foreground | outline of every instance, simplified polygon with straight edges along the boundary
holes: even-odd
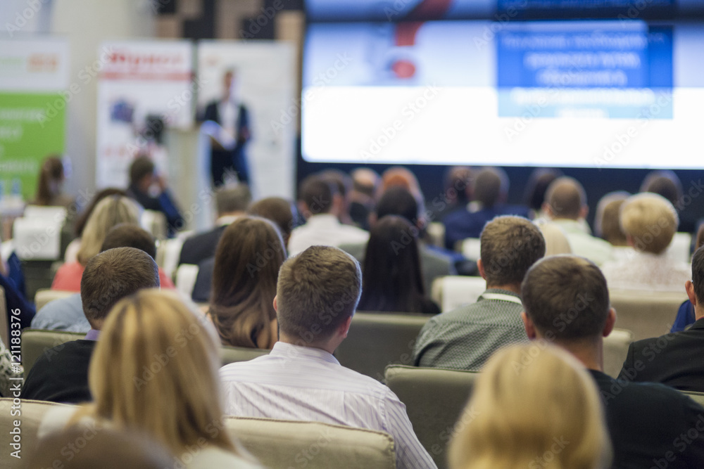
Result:
[[[455,430],[451,469],[609,467],[593,379],[570,354],[543,342],[494,354]]]

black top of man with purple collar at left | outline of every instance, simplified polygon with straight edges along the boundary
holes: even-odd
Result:
[[[92,401],[88,365],[96,344],[73,340],[46,350],[27,374],[20,397],[67,404]]]

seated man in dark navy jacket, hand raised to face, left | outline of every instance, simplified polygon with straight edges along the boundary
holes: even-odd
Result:
[[[153,188],[156,188],[158,195],[151,195]],[[165,179],[161,174],[156,174],[154,162],[149,156],[137,156],[130,165],[130,186],[127,188],[127,194],[146,210],[163,213],[170,237],[183,228],[184,219],[181,212],[171,197]]]

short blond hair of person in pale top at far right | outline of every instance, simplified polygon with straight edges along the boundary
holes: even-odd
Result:
[[[679,217],[674,206],[662,195],[631,195],[621,207],[621,228],[633,239],[637,251],[661,254],[677,232]]]

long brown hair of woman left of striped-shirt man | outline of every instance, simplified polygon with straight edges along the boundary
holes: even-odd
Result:
[[[223,344],[268,348],[275,341],[272,302],[284,259],[281,234],[267,219],[241,217],[223,231],[208,310]]]

